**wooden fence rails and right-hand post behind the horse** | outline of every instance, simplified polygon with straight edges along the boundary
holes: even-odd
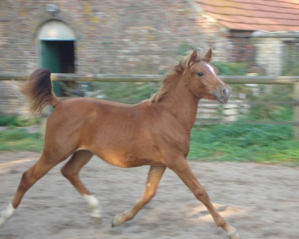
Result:
[[[25,74],[5,74],[0,73],[1,80],[24,81],[28,78]],[[78,82],[160,82],[161,75],[118,75],[118,74],[51,74],[52,81],[78,81]],[[299,76],[219,76],[221,80],[228,84],[267,84],[267,85],[294,85],[293,102],[242,102],[234,104],[264,104],[264,105],[292,105],[294,109],[293,121],[247,121],[248,123],[274,123],[294,125],[294,137],[299,139]],[[215,102],[204,102],[204,104],[214,104]],[[202,120],[201,120],[202,121]],[[210,122],[231,122],[227,120],[210,120]]]

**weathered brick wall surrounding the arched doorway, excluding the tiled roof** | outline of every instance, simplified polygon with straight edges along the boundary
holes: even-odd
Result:
[[[58,14],[46,11],[49,3]],[[76,73],[156,74],[184,43],[190,50],[211,47],[218,60],[232,48],[228,30],[189,0],[3,0],[0,72],[29,74],[40,66],[36,34],[51,19],[75,32]]]

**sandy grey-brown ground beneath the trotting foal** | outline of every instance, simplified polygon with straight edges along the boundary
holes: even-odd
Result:
[[[10,202],[33,152],[0,152],[0,210]],[[299,167],[237,162],[189,162],[225,219],[241,239],[299,238]],[[121,169],[97,157],[81,178],[101,201],[103,221],[91,219],[85,201],[60,174],[61,165],[25,195],[0,228],[1,239],[226,239],[211,216],[169,169],[156,196],[130,222],[111,228],[115,214],[141,197],[149,167]]]

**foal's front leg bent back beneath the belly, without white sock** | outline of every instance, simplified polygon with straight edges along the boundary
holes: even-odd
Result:
[[[135,215],[150,201],[154,196],[160,179],[165,171],[164,166],[150,166],[147,179],[147,185],[142,199],[130,210],[116,215],[112,221],[112,227],[119,226],[135,217]]]

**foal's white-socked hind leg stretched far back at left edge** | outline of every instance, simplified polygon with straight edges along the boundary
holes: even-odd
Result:
[[[0,226],[3,225],[13,214],[14,210],[20,204],[26,191],[33,186],[33,184],[44,176],[51,168],[65,160],[65,157],[54,157],[48,154],[41,155],[40,159],[22,175],[19,186],[14,194],[14,197],[8,207],[2,211],[0,218]]]

